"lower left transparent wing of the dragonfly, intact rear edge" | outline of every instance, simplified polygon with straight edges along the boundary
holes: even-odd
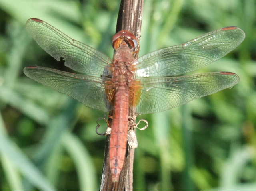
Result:
[[[31,79],[69,95],[90,108],[104,112],[112,109],[105,92],[105,86],[110,85],[108,78],[73,74],[39,66],[26,67],[24,73]]]

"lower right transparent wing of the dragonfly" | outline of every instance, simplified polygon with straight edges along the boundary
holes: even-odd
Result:
[[[179,77],[142,78],[140,101],[136,112],[148,114],[162,112],[228,87],[236,85],[238,75],[213,72]]]

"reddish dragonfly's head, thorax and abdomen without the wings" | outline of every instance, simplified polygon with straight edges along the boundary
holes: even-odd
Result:
[[[114,83],[114,116],[110,134],[110,170],[112,181],[119,179],[126,153],[128,115],[129,115],[129,84],[134,79],[134,52],[138,45],[136,37],[122,30],[113,37],[116,50],[113,61],[112,81]]]

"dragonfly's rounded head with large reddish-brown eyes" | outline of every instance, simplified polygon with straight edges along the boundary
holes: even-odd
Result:
[[[130,31],[121,30],[113,36],[112,45],[114,49],[117,50],[121,44],[127,44],[134,54],[138,53],[139,45],[137,39]]]

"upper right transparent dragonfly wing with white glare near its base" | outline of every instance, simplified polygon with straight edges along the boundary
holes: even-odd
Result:
[[[244,37],[240,28],[226,27],[186,43],[151,52],[138,59],[136,76],[175,76],[194,71],[232,51]]]

